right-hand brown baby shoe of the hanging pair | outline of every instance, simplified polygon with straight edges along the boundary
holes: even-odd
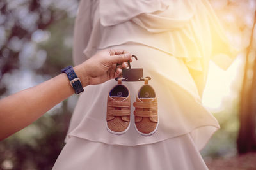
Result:
[[[135,107],[134,122],[137,132],[145,136],[154,134],[159,122],[157,97],[153,87],[148,85],[147,78],[145,78],[145,85],[138,91],[133,106]]]

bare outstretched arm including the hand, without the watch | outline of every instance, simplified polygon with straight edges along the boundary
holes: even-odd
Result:
[[[131,53],[125,50],[102,50],[74,67],[83,87],[104,83],[120,76]],[[116,68],[116,63],[122,67]],[[67,75],[62,73],[40,85],[17,92],[0,100],[0,140],[19,131],[44,115],[53,106],[74,94]]]

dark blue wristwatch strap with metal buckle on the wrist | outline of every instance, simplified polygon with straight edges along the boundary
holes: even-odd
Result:
[[[70,85],[74,88],[76,94],[80,94],[84,91],[80,78],[77,77],[72,66],[65,67],[61,70],[61,73],[67,74]]]

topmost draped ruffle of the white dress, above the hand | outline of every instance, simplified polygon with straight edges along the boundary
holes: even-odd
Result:
[[[207,1],[117,2],[100,1],[99,16],[95,16],[100,20],[95,26],[100,28],[92,34],[100,32],[101,35],[91,36],[99,39],[91,40],[84,50],[86,55],[92,55],[95,48],[134,42],[182,57],[189,69],[196,71],[204,71],[207,67],[204,64],[219,53],[226,55],[221,58],[234,59],[230,44]],[[95,41],[97,45],[93,44]]]

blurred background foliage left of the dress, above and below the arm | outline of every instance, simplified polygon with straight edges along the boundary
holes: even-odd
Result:
[[[78,2],[0,1],[1,97],[12,93],[11,89],[19,90],[26,80],[29,82],[22,88],[56,76],[61,68],[72,64],[72,32]],[[20,73],[24,73],[25,79],[19,77]],[[1,141],[0,169],[51,169],[64,146],[73,107],[70,103],[76,103],[76,97],[63,101],[33,124]]]

